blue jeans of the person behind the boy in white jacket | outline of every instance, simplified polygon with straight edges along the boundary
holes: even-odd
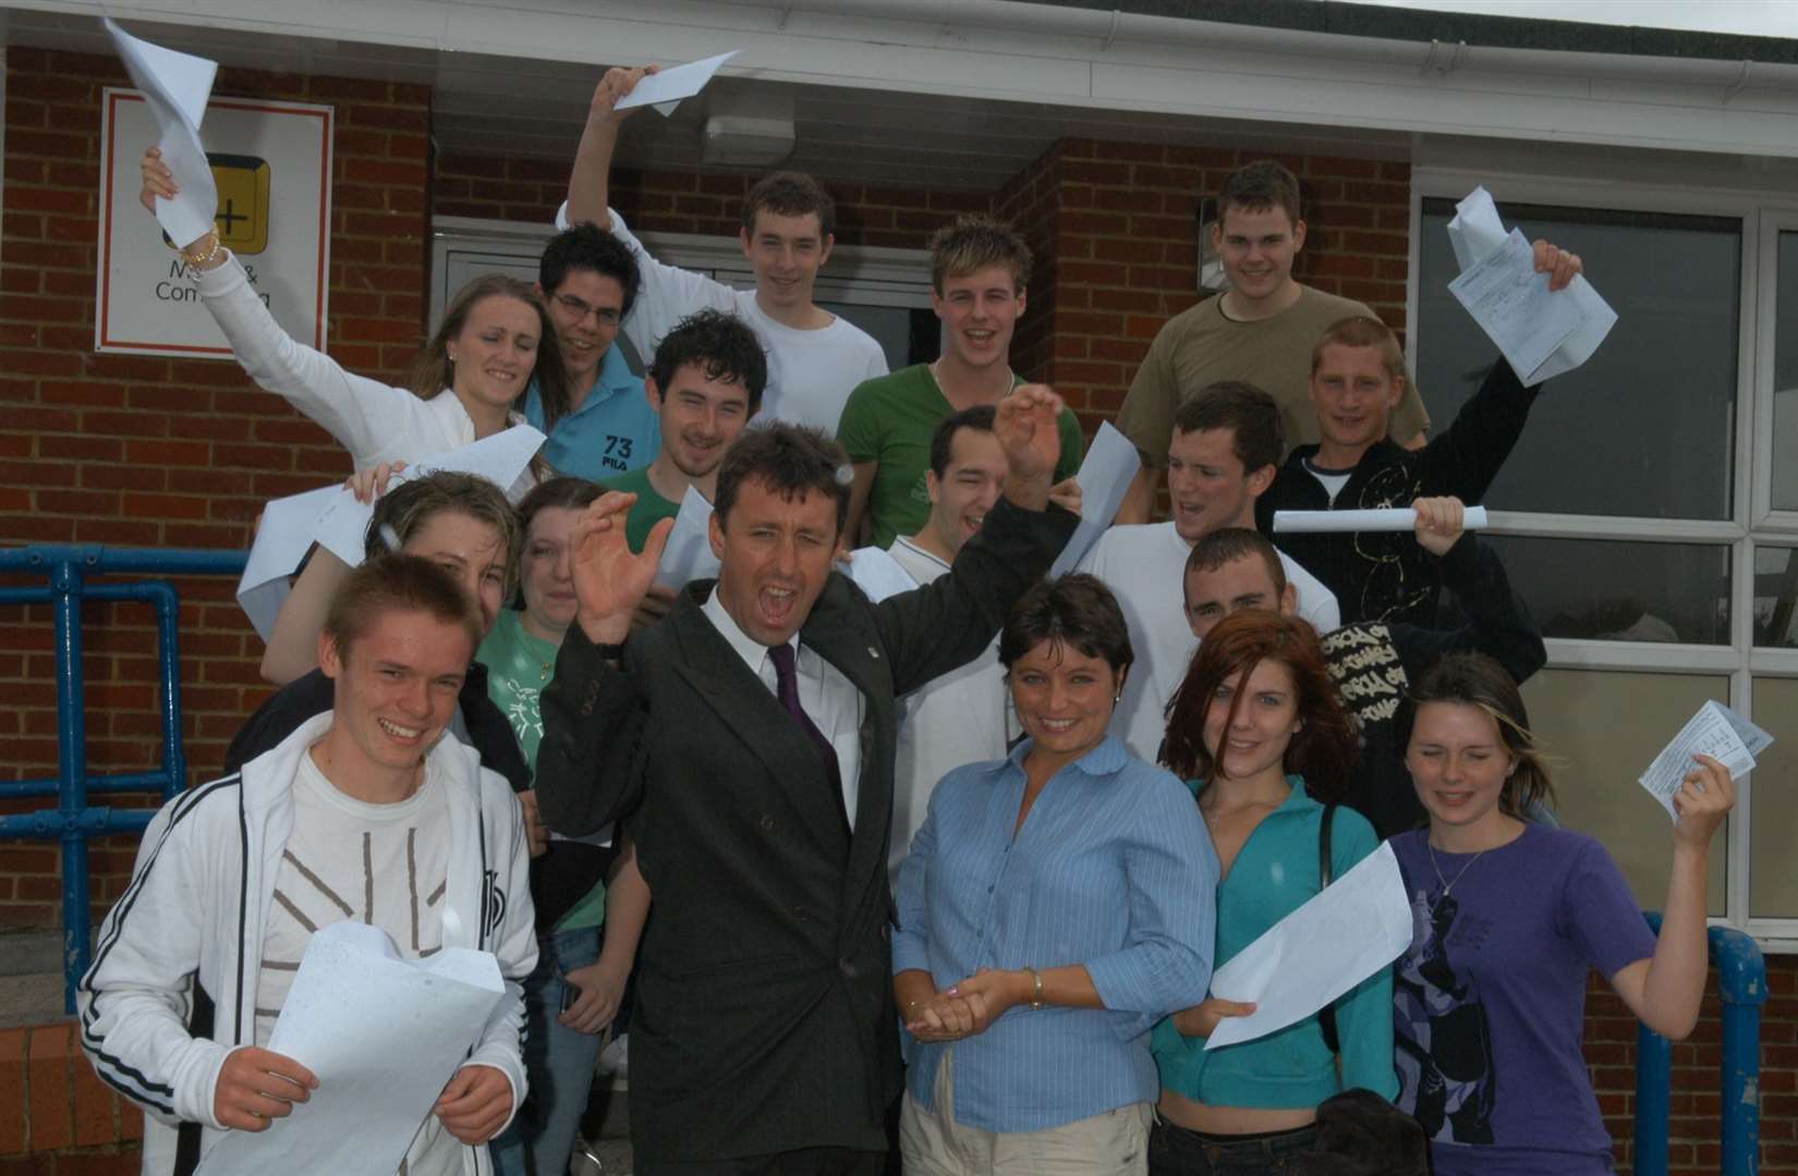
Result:
[[[593,1088],[599,1034],[563,1025],[563,977],[599,959],[599,928],[538,932],[538,966],[525,980],[525,1075],[530,1093],[491,1144],[494,1176],[566,1176],[574,1137]]]

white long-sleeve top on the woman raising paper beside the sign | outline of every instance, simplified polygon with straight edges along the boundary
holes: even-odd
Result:
[[[356,469],[419,461],[475,442],[475,420],[448,388],[421,400],[405,388],[345,372],[336,359],[288,336],[236,257],[200,271],[198,285],[250,379],[334,436]]]

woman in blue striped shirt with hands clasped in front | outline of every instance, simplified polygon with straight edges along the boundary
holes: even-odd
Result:
[[[1000,661],[1027,738],[937,785],[899,873],[904,1167],[1145,1172],[1149,1029],[1210,982],[1217,860],[1179,781],[1106,734],[1131,645],[1104,584],[1034,587]]]

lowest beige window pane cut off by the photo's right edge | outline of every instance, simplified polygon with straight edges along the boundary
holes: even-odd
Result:
[[[1755,679],[1755,724],[1773,736],[1749,786],[1755,821],[1748,831],[1748,914],[1798,917],[1798,679]]]

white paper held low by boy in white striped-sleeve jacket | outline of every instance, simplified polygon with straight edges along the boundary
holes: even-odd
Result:
[[[313,934],[268,1049],[318,1090],[266,1131],[225,1131],[198,1176],[392,1176],[444,1083],[507,998],[491,952],[405,961],[367,923]]]

